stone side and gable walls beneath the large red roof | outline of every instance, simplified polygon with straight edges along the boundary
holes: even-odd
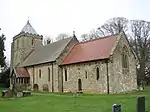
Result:
[[[128,49],[129,71],[122,72],[123,47]],[[136,58],[124,35],[120,35],[116,45],[112,49],[112,55],[108,61],[109,92],[119,93],[137,89]],[[78,91],[78,79],[82,81],[83,92],[107,93],[107,65],[106,61],[86,62],[63,66],[63,91]],[[96,68],[100,69],[100,78],[96,79]],[[67,81],[65,81],[65,69]],[[87,72],[87,78],[85,76]]]

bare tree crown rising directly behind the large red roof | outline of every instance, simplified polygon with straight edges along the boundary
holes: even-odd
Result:
[[[104,37],[107,35],[118,34],[122,30],[127,34],[129,20],[124,17],[114,17],[107,20],[102,26],[96,30],[92,30],[87,34],[83,34],[81,38],[83,41],[92,40],[95,38]],[[86,36],[85,36],[86,35]]]

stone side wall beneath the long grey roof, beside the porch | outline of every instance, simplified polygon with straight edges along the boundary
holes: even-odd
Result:
[[[50,69],[50,81],[48,79],[48,68]],[[32,67],[27,67],[27,70],[30,74],[30,83],[32,86],[32,90],[34,84],[38,84],[39,91],[43,91],[43,86],[48,85],[49,92],[52,92],[53,85],[53,92],[58,92],[58,66],[56,65],[56,63],[35,65]],[[41,70],[41,77],[39,76],[39,70]]]

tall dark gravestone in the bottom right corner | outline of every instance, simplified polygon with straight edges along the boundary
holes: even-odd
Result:
[[[145,112],[145,97],[137,97],[136,112]]]

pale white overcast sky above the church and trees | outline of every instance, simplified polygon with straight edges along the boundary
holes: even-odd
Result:
[[[150,20],[150,0],[0,0],[0,28],[6,35],[6,56],[11,42],[29,17],[37,33],[55,38],[59,33],[77,38],[107,19],[122,16]]]

